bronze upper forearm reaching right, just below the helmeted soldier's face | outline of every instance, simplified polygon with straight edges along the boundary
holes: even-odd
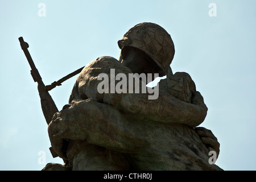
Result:
[[[105,94],[104,103],[123,113],[137,115],[156,123],[181,123],[195,127],[207,115],[207,106],[199,92],[192,93],[192,103],[178,100],[171,94],[159,90],[156,100],[148,100],[148,94]]]

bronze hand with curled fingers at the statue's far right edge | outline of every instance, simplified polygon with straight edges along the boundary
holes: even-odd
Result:
[[[213,135],[212,131],[205,129],[204,127],[196,127],[195,130],[202,142],[208,148],[208,151],[215,151],[218,158],[218,154],[220,154],[220,143],[218,143],[218,140]]]

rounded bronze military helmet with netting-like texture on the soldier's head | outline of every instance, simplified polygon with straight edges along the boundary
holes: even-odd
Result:
[[[120,49],[125,46],[141,49],[164,72],[174,59],[175,49],[171,36],[155,23],[139,23],[130,28],[123,38],[118,40],[118,46]]]

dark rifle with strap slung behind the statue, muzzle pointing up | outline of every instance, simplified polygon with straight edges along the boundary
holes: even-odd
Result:
[[[22,37],[19,38],[19,42],[20,42],[20,47],[22,48],[25,56],[27,57],[28,63],[30,64],[31,76],[35,82],[38,82],[38,92],[40,96],[41,107],[43,110],[44,118],[46,118],[47,125],[49,125],[49,123],[52,120],[53,114],[59,112],[59,110],[57,109],[57,106],[55,105],[55,102],[52,100],[52,97],[48,91],[55,88],[56,86],[61,85],[61,83],[65,80],[68,80],[68,78],[71,78],[72,76],[77,75],[82,71],[84,67],[77,69],[75,72],[70,73],[69,75],[61,78],[58,81],[52,82],[51,85],[44,85],[42,77],[40,76],[38,69],[36,69],[35,67],[35,64],[34,64],[34,61],[32,60],[30,52],[28,52],[28,49],[27,49],[29,47],[28,43],[24,42]],[[63,147],[64,147],[63,150],[67,150],[67,147],[68,147],[67,140],[64,140]],[[56,158],[58,156],[52,147],[50,147],[49,150],[51,151],[53,158]],[[65,166],[68,164],[68,162],[65,160],[64,160],[64,163],[65,163]]]

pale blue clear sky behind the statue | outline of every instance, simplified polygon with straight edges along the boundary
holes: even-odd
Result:
[[[38,16],[45,3],[46,16]],[[210,17],[209,3],[217,16]],[[53,159],[37,84],[18,38],[23,36],[44,84],[100,56],[118,58],[117,41],[135,24],[157,23],[172,36],[173,72],[187,72],[208,106],[201,126],[221,143],[225,170],[256,169],[256,1],[0,1],[0,170],[40,170]],[[50,94],[59,110],[76,77]]]

